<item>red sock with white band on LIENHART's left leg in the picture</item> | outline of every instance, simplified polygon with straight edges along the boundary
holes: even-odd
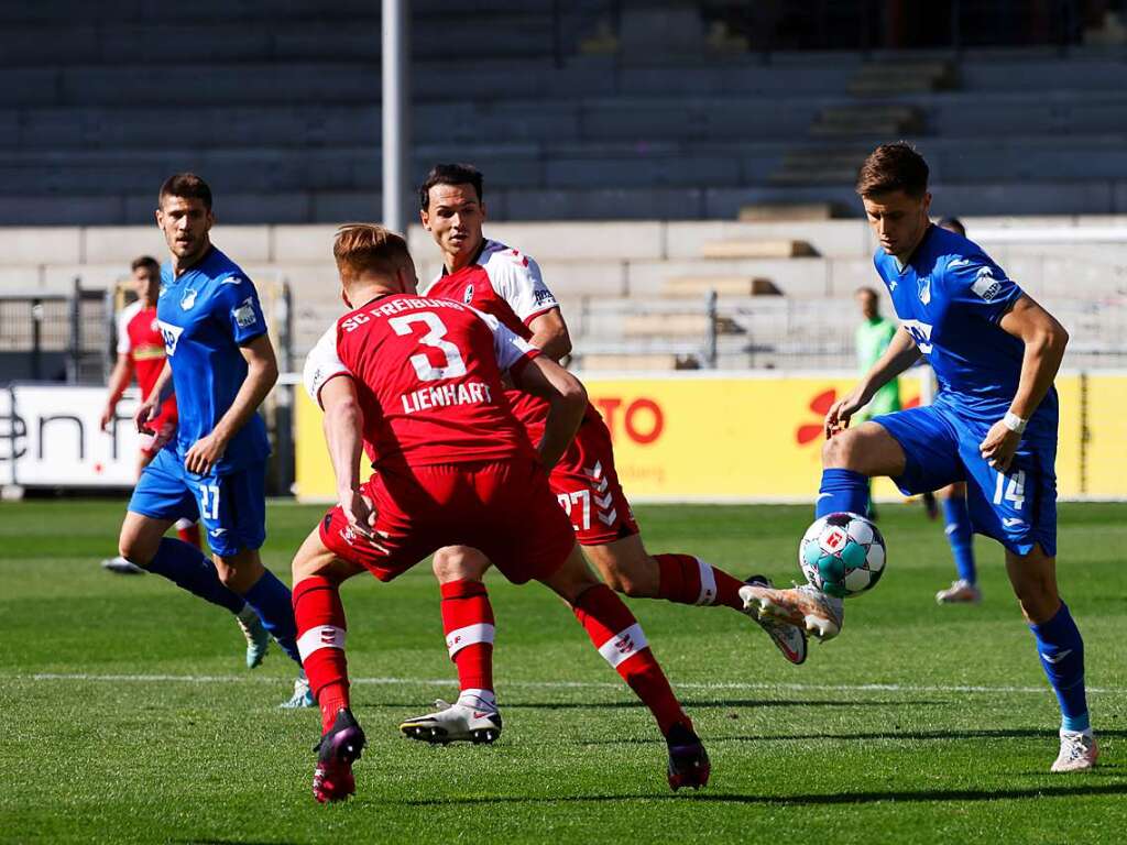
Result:
[[[348,706],[348,661],[345,659],[345,608],[340,593],[328,578],[305,578],[293,588],[298,623],[298,651],[309,686],[321,709],[321,731]]]

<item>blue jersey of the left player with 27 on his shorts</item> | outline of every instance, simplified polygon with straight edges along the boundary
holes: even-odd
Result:
[[[157,322],[172,367],[179,412],[176,447],[180,459],[214,430],[247,377],[241,344],[266,333],[258,293],[246,274],[214,247],[178,277],[170,263],[160,268]],[[250,418],[215,464],[220,473],[260,461],[270,452],[266,424]]]

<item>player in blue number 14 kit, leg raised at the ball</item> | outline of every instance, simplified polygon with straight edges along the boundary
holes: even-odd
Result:
[[[975,243],[932,225],[928,164],[908,144],[878,146],[857,185],[880,248],[877,273],[900,329],[860,383],[826,415],[816,513],[863,514],[868,481],[906,495],[967,483],[970,522],[1005,548],[1005,567],[1061,705],[1054,772],[1095,765],[1084,694],[1084,643],[1057,594],[1053,381],[1068,336]],[[931,406],[850,418],[921,355],[939,380]],[[836,635],[842,603],[814,587],[746,586],[749,605]]]

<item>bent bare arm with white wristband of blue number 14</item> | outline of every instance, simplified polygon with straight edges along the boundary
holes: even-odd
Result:
[[[1005,472],[1021,443],[1026,424],[1053,386],[1064,359],[1068,332],[1053,314],[1024,293],[999,320],[999,326],[1026,345],[1018,391],[1010,410],[991,427],[979,444],[982,456],[990,465]]]

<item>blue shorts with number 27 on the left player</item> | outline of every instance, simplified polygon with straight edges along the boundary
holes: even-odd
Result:
[[[258,549],[266,540],[266,462],[219,475],[196,475],[171,448],[141,472],[130,510],[153,519],[199,518],[207,544],[221,557]]]

